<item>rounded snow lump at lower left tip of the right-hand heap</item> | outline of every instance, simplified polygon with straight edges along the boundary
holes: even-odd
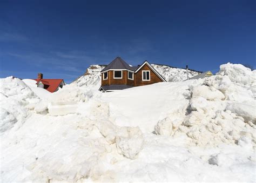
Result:
[[[169,117],[159,120],[157,125],[154,126],[154,131],[159,135],[172,134],[172,121]]]

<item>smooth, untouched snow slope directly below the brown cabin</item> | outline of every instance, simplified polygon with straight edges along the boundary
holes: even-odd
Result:
[[[109,103],[110,115],[116,119],[117,125],[139,126],[143,132],[153,132],[156,121],[168,115],[177,114],[177,120],[185,117],[189,100],[183,93],[187,92],[188,83],[192,82],[138,86],[104,93],[102,99]]]

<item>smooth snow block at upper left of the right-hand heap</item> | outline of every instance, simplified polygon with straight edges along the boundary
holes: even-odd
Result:
[[[207,100],[217,100],[217,99],[225,99],[223,93],[219,90],[216,90],[214,87],[209,87],[205,85],[196,86],[193,89],[193,97],[203,97]]]

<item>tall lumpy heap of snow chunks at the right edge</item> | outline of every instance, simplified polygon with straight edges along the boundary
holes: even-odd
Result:
[[[255,73],[240,64],[220,66],[216,76],[190,86],[190,105],[180,131],[198,145],[236,143],[245,135],[255,143]],[[242,103],[241,103],[242,102]]]

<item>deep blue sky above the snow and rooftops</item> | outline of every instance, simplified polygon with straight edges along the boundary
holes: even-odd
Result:
[[[217,72],[255,61],[255,1],[0,1],[0,77],[64,78],[120,56]]]

